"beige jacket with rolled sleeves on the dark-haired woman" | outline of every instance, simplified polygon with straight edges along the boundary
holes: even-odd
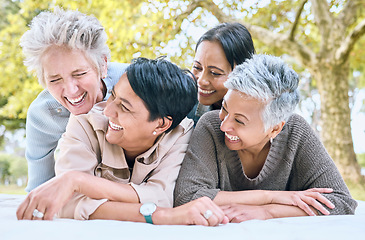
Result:
[[[130,174],[123,149],[105,139],[108,118],[102,114],[104,107],[105,102],[101,102],[88,114],[71,115],[55,153],[56,175],[77,170],[130,184],[141,203],[172,207],[173,190],[193,131],[193,121],[185,118],[175,129],[162,134],[148,151],[136,157]],[[58,216],[88,219],[105,201],[107,199],[75,194]]]

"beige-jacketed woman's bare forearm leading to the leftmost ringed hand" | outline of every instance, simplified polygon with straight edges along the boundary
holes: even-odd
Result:
[[[129,184],[116,183],[90,174],[73,171],[74,190],[93,199],[108,199],[110,201],[139,203],[139,198]]]

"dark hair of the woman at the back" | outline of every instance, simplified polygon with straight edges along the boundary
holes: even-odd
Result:
[[[237,22],[221,23],[208,30],[198,40],[195,51],[203,41],[219,42],[232,70],[235,64],[239,65],[255,54],[250,32],[245,26]]]

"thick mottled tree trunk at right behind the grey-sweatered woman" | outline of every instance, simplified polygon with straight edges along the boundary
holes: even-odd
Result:
[[[317,66],[314,75],[321,96],[321,140],[343,178],[359,182],[363,177],[356,161],[350,127],[349,63],[329,63],[325,59]]]

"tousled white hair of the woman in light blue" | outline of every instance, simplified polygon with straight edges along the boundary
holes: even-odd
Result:
[[[100,74],[105,58],[110,58],[106,40],[104,27],[97,18],[56,7],[54,12],[44,11],[33,18],[30,29],[20,39],[20,46],[25,55],[24,65],[35,71],[39,83],[46,87],[41,59],[49,47],[81,50]]]

